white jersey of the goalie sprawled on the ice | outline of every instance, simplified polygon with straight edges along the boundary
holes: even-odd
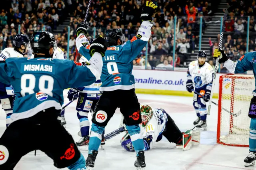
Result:
[[[167,122],[167,115],[161,109],[152,108],[153,117],[148,121],[145,127],[140,127],[140,133],[143,138],[152,135],[153,142],[156,142],[157,137],[164,132]]]

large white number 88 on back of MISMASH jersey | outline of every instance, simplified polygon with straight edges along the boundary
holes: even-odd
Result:
[[[27,84],[28,81],[28,84]],[[46,86],[46,81],[47,83],[47,88]],[[38,81],[38,88],[39,88],[39,93],[46,93],[49,96],[53,96],[52,90],[53,90],[53,84],[54,84],[54,79],[49,76],[49,75],[42,75],[39,78]],[[20,78],[20,94],[24,97],[26,96],[26,93],[28,94],[33,94],[34,88],[36,86],[36,77],[32,74],[24,74]]]

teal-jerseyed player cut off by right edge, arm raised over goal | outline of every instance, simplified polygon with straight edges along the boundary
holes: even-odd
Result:
[[[240,57],[237,61],[232,61],[228,59],[228,56],[224,52],[223,49],[215,49],[213,57],[216,59],[219,57],[219,63],[223,63],[223,66],[230,71],[230,73],[244,73],[248,70],[252,70],[254,73],[254,77],[256,76],[256,51],[246,53],[242,57]],[[250,134],[249,134],[249,154],[244,159],[244,166],[253,166],[256,160],[256,115],[255,113],[255,105],[256,105],[256,89],[252,92],[252,99],[250,102],[248,117],[251,118],[250,123]]]

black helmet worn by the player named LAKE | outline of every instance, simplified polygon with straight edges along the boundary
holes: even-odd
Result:
[[[118,39],[121,42],[125,41],[124,33],[119,29],[109,29],[105,33],[105,40],[109,42],[109,46],[118,45]]]

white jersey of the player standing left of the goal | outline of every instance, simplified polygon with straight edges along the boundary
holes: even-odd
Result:
[[[194,87],[199,89],[200,87],[206,86],[209,83],[212,83],[212,66],[205,62],[202,67],[199,67],[198,60],[192,61],[188,65],[188,80],[191,79]]]

